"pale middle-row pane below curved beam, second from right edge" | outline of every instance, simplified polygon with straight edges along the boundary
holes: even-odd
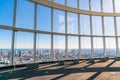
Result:
[[[105,35],[115,35],[113,17],[104,17],[104,29]]]

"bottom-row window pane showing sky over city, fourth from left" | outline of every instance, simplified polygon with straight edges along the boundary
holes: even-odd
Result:
[[[54,55],[56,60],[65,60],[65,36],[54,35]]]

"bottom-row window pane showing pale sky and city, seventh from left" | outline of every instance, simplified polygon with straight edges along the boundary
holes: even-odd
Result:
[[[104,53],[103,38],[101,37],[93,38],[93,49],[94,49],[94,57],[103,58],[103,53]]]

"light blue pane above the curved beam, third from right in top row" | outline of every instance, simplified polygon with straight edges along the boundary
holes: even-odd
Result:
[[[101,11],[101,0],[91,0],[92,11]]]

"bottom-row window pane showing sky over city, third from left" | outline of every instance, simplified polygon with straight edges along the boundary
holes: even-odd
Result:
[[[51,35],[37,34],[36,62],[51,60]]]

